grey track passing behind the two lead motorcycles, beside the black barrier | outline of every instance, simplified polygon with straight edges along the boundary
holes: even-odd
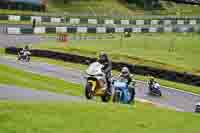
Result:
[[[55,65],[45,63],[22,63],[16,62],[13,58],[1,57],[0,64],[6,64],[25,71],[48,75],[64,79],[69,82],[84,84],[83,73],[78,70],[65,69]],[[162,98],[152,97],[148,95],[147,84],[137,82],[136,97],[138,99],[145,99],[159,106],[176,109],[177,111],[193,112],[195,104],[200,101],[200,96],[190,94],[174,89],[161,88],[163,92]],[[0,93],[1,95],[1,93]]]

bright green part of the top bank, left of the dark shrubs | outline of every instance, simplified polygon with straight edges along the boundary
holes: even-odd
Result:
[[[52,12],[67,12],[72,14],[85,14],[91,16],[114,16],[114,15],[133,15],[124,4],[118,0],[92,0],[92,1],[73,1],[67,4],[63,4],[63,1],[49,1],[49,11]],[[140,14],[143,14],[140,12]]]

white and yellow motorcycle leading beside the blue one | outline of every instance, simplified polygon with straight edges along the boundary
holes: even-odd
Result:
[[[92,99],[94,96],[100,96],[103,102],[108,102],[111,99],[111,96],[107,91],[108,84],[102,68],[102,64],[94,62],[90,64],[86,70],[87,83],[85,86],[85,96],[87,99]]]

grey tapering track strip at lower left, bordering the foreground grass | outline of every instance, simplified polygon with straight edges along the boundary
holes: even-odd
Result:
[[[48,91],[38,91],[38,90],[18,88],[14,86],[0,85],[0,100],[38,101],[38,102],[41,101],[82,102],[84,99],[80,97],[56,94]]]

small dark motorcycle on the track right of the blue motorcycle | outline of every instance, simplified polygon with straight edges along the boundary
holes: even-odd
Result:
[[[152,96],[162,96],[160,85],[158,83],[149,84],[149,94]]]

